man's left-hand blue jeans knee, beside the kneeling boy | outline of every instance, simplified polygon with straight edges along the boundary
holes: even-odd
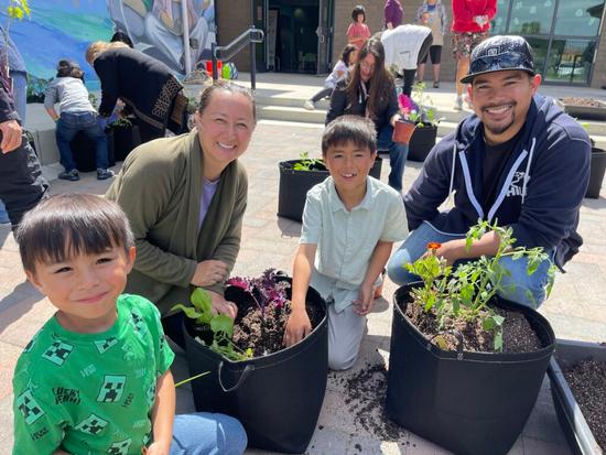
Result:
[[[439,243],[448,240],[462,239],[465,235],[442,234],[435,230],[430,224],[423,223],[409,234],[402,246],[393,253],[387,263],[387,274],[398,285],[409,284],[419,281],[419,277],[410,273],[404,264],[412,263],[428,251],[428,243]]]

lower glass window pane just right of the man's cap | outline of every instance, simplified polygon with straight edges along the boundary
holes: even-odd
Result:
[[[553,40],[545,80],[588,84],[595,46],[588,40]]]

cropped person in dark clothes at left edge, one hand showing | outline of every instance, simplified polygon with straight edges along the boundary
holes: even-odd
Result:
[[[37,156],[21,129],[19,115],[8,89],[8,78],[0,84],[0,199],[4,202],[14,230],[21,218],[48,191]]]

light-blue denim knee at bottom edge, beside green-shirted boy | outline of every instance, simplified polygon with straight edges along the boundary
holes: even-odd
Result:
[[[175,415],[171,455],[240,455],[248,444],[240,422],[225,414]]]

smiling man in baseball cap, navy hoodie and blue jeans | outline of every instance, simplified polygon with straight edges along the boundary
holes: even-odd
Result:
[[[403,264],[430,241],[450,264],[495,254],[499,238],[485,234],[465,250],[465,232],[478,219],[513,229],[517,246],[543,247],[562,269],[583,242],[578,209],[589,178],[587,133],[553,99],[538,94],[532,48],[521,36],[493,36],[472,53],[469,84],[475,115],[431,151],[404,196],[409,238],[391,258],[392,281],[418,280]],[[453,196],[454,206],[439,212]],[[537,307],[545,299],[545,261],[532,275],[524,259],[504,259],[511,272],[501,296]]]

